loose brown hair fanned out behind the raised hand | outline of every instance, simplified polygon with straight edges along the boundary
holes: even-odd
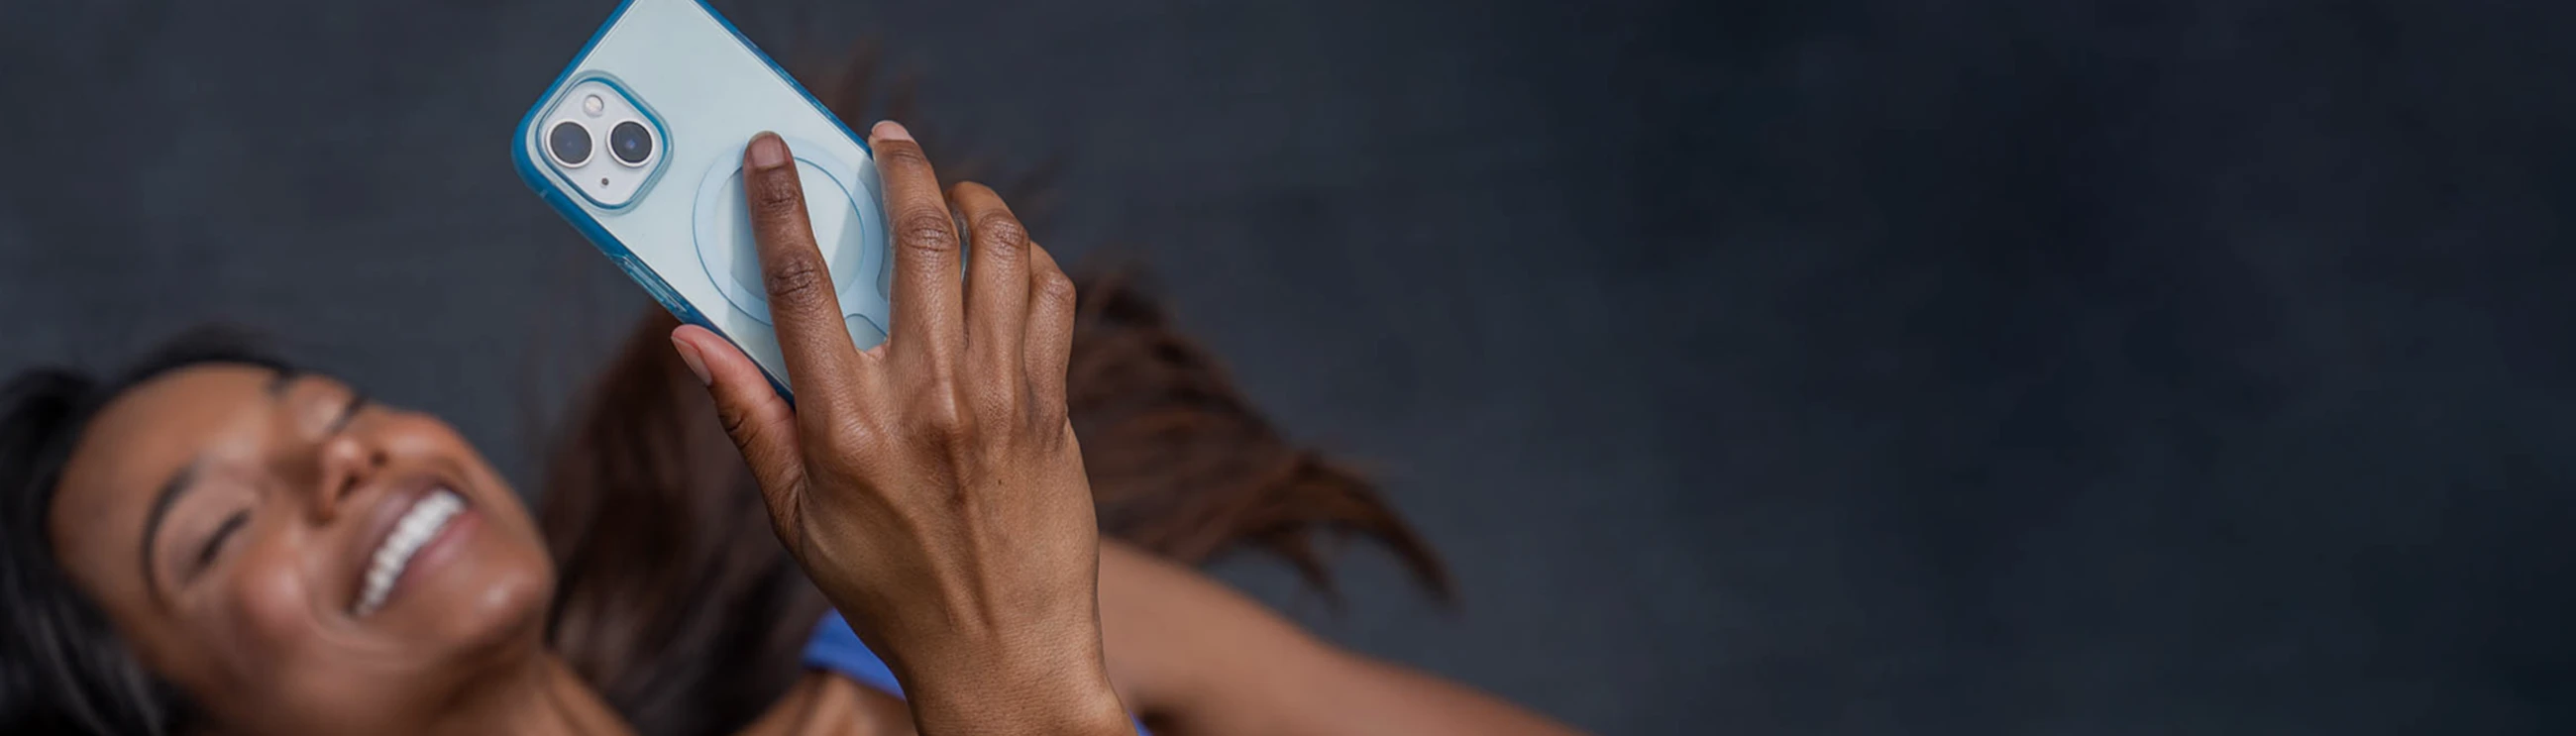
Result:
[[[811,90],[866,124],[871,62],[863,49]],[[912,118],[902,87],[889,98]],[[992,180],[976,157],[933,160],[945,178]],[[1332,594],[1311,540],[1340,530],[1383,543],[1450,600],[1437,556],[1376,486],[1280,437],[1136,281],[1074,283],[1066,404],[1105,535],[1185,564],[1265,551]],[[799,646],[827,605],[778,546],[706,389],[672,355],[675,327],[647,314],[546,453],[538,525],[559,566],[549,641],[639,733],[732,733],[796,682]]]

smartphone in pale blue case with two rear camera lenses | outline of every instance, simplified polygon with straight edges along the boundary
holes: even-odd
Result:
[[[742,147],[796,154],[814,244],[866,350],[886,340],[884,198],[853,134],[703,0],[626,0],[518,124],[518,175],[680,322],[742,347],[781,396]]]

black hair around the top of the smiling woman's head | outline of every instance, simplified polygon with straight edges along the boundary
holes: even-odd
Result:
[[[70,368],[0,386],[0,733],[178,733],[188,700],[144,672],[54,558],[52,507],[72,445],[111,399],[162,373],[242,363],[289,371],[245,332],[198,329],[108,381]]]

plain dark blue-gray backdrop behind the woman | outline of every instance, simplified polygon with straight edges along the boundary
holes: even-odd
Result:
[[[0,5],[0,365],[201,319],[526,445],[644,301],[505,139],[613,3]],[[1610,733],[2571,723],[2561,3],[726,3],[1059,157]],[[2514,8],[2530,5],[2530,8]]]

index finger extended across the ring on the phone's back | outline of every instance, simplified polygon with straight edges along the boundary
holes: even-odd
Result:
[[[858,381],[858,345],[840,319],[832,273],[814,247],[814,224],[804,208],[804,183],[796,160],[778,134],[757,134],[742,149],[742,193],[750,198],[752,242],[760,244],[760,286],[770,296],[770,324],[778,327],[778,353],[786,353],[788,386],[799,409],[845,401]],[[809,414],[809,412],[796,412]]]

